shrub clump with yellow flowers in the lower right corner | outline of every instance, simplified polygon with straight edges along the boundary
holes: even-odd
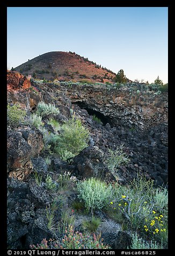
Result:
[[[130,186],[113,186],[113,209],[125,216],[131,229],[167,246],[167,191],[154,188],[153,181],[144,175],[130,182]]]

